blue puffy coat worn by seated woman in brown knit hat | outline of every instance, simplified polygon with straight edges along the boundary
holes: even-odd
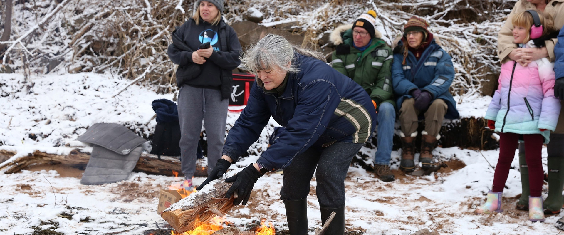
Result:
[[[399,42],[399,46],[402,46]],[[456,110],[455,99],[452,98],[448,88],[451,86],[455,77],[455,70],[452,67],[452,58],[446,51],[440,48],[435,40],[431,41],[425,51],[416,59],[415,55],[408,52],[406,65],[402,65],[403,54],[394,54],[394,63],[391,66],[391,77],[394,85],[394,93],[398,96],[396,105],[398,109],[402,107],[404,99],[411,98],[409,92],[413,89],[429,91],[435,99],[443,99],[448,105],[445,118],[459,118],[460,114]]]

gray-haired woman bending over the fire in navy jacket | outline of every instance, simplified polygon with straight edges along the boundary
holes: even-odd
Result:
[[[306,197],[315,172],[322,223],[336,212],[325,235],[342,235],[347,170],[375,127],[376,111],[370,96],[327,65],[323,55],[292,46],[274,34],[248,49],[241,61],[257,74],[257,80],[247,106],[227,135],[223,157],[202,185],[223,175],[257,141],[272,117],[285,129],[256,163],[226,179],[235,182],[226,197],[236,193],[233,204],[246,205],[259,177],[284,169],[280,198],[286,207],[288,228],[292,235],[306,235]]]

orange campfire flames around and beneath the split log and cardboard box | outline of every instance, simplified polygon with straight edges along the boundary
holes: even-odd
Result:
[[[178,180],[179,179],[178,178],[178,172],[173,171],[173,174],[175,176],[175,180]],[[183,183],[187,183],[186,180],[184,180]],[[183,187],[180,187],[180,185],[181,185],[180,182],[175,182],[175,183],[172,183],[168,188],[170,190],[177,190],[178,194],[180,194],[180,196],[182,198],[186,198],[191,193],[196,192],[196,189],[193,189],[193,191],[189,192],[186,189],[184,189]],[[222,215],[220,215],[220,216],[222,216]],[[232,224],[230,222],[222,219],[222,217],[216,216],[214,218],[211,218],[207,223],[201,224],[199,227],[196,227],[195,229],[188,230],[188,231],[183,232],[183,233],[178,233],[175,230],[171,230],[170,234],[171,235],[209,235],[209,234],[213,234],[213,233],[218,232],[218,231],[219,232],[216,233],[216,234],[223,234],[223,233],[221,233],[220,230],[222,230],[222,229],[226,230],[227,229],[227,230],[230,230],[231,233],[233,233],[232,230],[236,230],[241,235],[274,235],[275,231],[276,231],[274,226],[272,226],[272,223],[268,223],[268,225],[266,225],[265,221],[266,220],[262,220],[260,227],[253,229],[253,231],[246,232],[246,231],[241,231],[240,229],[236,229],[235,227],[231,227]],[[224,225],[227,225],[228,227],[224,228]]]

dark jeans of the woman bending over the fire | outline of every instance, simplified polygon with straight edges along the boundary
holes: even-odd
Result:
[[[345,205],[345,178],[352,161],[363,144],[337,142],[322,149],[309,148],[284,168],[280,198],[295,200],[310,193],[315,172],[319,205],[336,208]]]

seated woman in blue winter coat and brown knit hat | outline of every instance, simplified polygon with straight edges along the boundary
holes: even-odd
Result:
[[[422,169],[434,165],[433,149],[440,139],[443,118],[459,118],[456,102],[448,91],[455,77],[452,58],[435,42],[429,24],[413,16],[404,26],[404,34],[394,48],[392,80],[398,97],[399,122],[402,128],[400,169],[415,170],[415,138],[419,115],[424,113],[425,130],[421,132],[419,161]]]

